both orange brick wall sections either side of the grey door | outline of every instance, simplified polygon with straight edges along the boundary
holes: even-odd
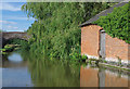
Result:
[[[81,54],[99,58],[100,29],[98,25],[88,25],[81,28]],[[130,60],[130,44],[106,34],[106,58]]]

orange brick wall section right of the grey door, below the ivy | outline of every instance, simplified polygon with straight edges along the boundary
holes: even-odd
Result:
[[[130,60],[130,53],[128,53],[128,46],[123,40],[118,38],[112,38],[106,34],[106,58],[117,59],[119,56],[121,60]]]

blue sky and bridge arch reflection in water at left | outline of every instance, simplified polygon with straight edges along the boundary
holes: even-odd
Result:
[[[21,54],[17,52],[2,58],[2,87],[34,86],[28,72],[27,62],[23,60],[17,62],[20,58],[22,59]]]

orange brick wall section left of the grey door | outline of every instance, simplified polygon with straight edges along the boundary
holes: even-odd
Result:
[[[81,54],[99,56],[100,29],[98,25],[89,25],[81,28]]]

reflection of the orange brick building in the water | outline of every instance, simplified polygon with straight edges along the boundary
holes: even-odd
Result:
[[[128,75],[110,71],[82,67],[80,69],[80,87],[128,87]]]

